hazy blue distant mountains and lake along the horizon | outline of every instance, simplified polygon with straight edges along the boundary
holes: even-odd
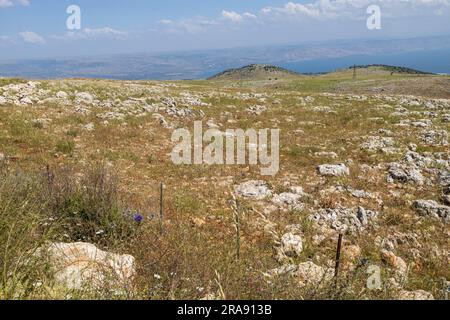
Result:
[[[223,70],[270,64],[300,73],[366,64],[450,74],[450,36],[314,42],[285,46],[0,61],[0,77],[204,79]]]

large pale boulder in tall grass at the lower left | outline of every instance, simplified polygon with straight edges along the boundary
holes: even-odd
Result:
[[[39,251],[58,285],[69,290],[124,289],[135,275],[135,260],[98,249],[90,243],[51,243]]]

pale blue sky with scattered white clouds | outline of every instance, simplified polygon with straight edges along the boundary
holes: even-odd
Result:
[[[370,5],[381,29],[367,28]],[[450,35],[450,0],[0,0],[0,59],[438,35]]]

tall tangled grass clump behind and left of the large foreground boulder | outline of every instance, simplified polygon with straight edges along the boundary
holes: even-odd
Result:
[[[97,166],[37,172],[0,163],[0,299],[46,297],[51,275],[36,252],[47,242],[90,242],[103,249],[128,245],[137,232],[120,201],[117,179]]]

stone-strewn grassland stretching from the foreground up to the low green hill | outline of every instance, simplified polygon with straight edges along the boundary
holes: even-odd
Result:
[[[0,84],[0,95],[5,95],[8,85],[26,82],[2,79]],[[55,98],[61,91],[67,97]],[[93,100],[80,100],[81,92]],[[399,290],[419,289],[438,299],[445,296],[448,224],[419,216],[412,202],[440,202],[443,191],[436,174],[448,167],[422,168],[425,183],[416,185],[387,183],[386,165],[401,162],[414,144],[418,153],[448,166],[448,145],[425,143],[422,137],[427,130],[448,132],[449,77],[371,69],[356,79],[352,71],[258,81],[73,79],[38,81],[28,95],[36,99],[0,106],[0,298],[395,299]],[[176,101],[175,109],[190,110],[189,115],[169,113],[167,98]],[[418,103],[411,103],[415,99]],[[247,109],[255,105],[267,110],[252,114]],[[406,110],[404,116],[394,114],[399,108]],[[426,128],[399,125],[405,119],[430,123]],[[221,130],[280,128],[279,173],[261,176],[258,166],[174,165],[173,128],[192,130],[195,120],[205,126],[210,120]],[[361,148],[368,137],[385,135],[394,141],[392,152]],[[322,177],[316,168],[325,163],[345,163],[350,175]],[[48,190],[49,176],[56,191]],[[89,187],[99,177],[106,187]],[[301,186],[309,197],[301,212],[273,207],[270,199],[240,199],[237,257],[230,200],[235,186],[249,180],[263,180],[274,194]],[[357,198],[337,187],[374,196]],[[303,251],[284,263],[313,261],[332,268],[336,233],[324,232],[308,217],[320,209],[358,206],[379,212],[379,219],[363,232],[345,235],[344,271],[337,286],[334,281],[302,286],[294,277],[264,275],[280,266],[277,235],[288,226],[301,234]],[[136,226],[124,220],[120,213],[126,210],[141,212],[143,222]],[[75,214],[80,212],[85,215]],[[318,236],[324,239],[318,242]],[[396,256],[408,264],[400,287],[390,287],[396,270],[380,253],[383,239],[393,242]],[[86,241],[133,255],[133,289],[121,296],[56,290],[45,265],[27,263],[30,252],[47,241]],[[350,254],[355,246],[356,257]],[[368,264],[382,268],[381,290],[367,289]],[[37,281],[43,285],[36,286]]]

